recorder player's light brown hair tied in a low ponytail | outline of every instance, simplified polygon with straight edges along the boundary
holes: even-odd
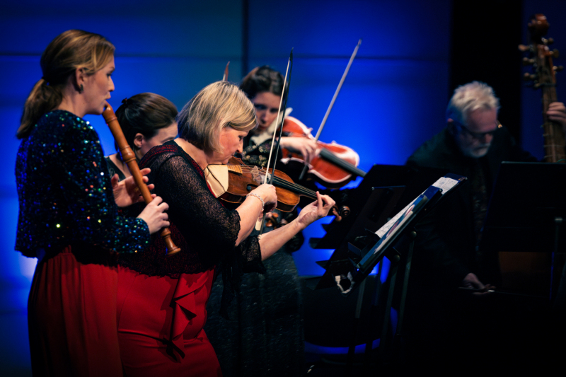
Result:
[[[18,139],[27,137],[33,125],[63,100],[63,88],[79,67],[92,75],[114,56],[115,47],[102,35],[83,30],[67,30],[57,35],[41,55],[43,77],[35,83],[25,100]]]

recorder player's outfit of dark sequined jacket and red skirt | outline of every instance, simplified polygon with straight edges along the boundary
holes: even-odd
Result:
[[[107,171],[96,131],[62,110],[18,149],[16,250],[40,258],[28,301],[34,375],[122,376],[111,252],[144,250],[149,231],[119,216]]]

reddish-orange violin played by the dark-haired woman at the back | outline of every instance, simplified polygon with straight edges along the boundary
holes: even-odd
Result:
[[[315,138],[302,122],[294,117],[285,117],[283,121],[283,133],[287,137],[306,137],[311,140]],[[359,156],[353,149],[337,144],[330,144],[316,140],[318,156],[308,163],[308,173],[314,180],[328,188],[340,188],[353,180],[358,175],[364,177],[366,172],[357,168]],[[298,153],[292,153],[282,149],[282,163],[297,161],[306,164],[304,157]]]

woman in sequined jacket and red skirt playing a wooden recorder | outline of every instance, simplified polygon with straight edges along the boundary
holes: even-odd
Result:
[[[167,205],[156,198],[137,218],[118,214],[139,194],[131,178],[110,180],[98,135],[82,119],[100,115],[114,90],[114,46],[68,30],[47,46],[41,68],[16,158],[16,250],[38,259],[28,301],[32,371],[122,376],[115,253],[142,252],[168,225]]]

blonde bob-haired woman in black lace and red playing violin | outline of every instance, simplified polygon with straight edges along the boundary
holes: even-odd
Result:
[[[212,83],[181,110],[178,139],[141,160],[141,167],[151,167],[155,192],[171,206],[170,230],[182,251],[166,257],[163,241],[155,237],[149,253],[119,261],[118,331],[127,376],[221,375],[202,330],[216,272],[224,280],[226,313],[242,274],[262,272],[262,260],[333,206],[330,197],[318,194],[289,226],[250,236],[262,212],[275,206],[275,187],[260,185],[229,211],[212,195],[203,170],[241,152],[256,124],[253,104],[237,86]]]

